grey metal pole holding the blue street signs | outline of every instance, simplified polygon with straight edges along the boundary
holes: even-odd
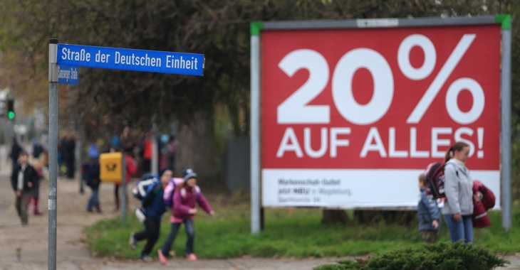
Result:
[[[48,41],[48,270],[56,270],[58,172],[58,38]]]

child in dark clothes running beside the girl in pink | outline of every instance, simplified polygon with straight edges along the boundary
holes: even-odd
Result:
[[[160,180],[156,180],[152,185],[148,185],[146,195],[142,198],[141,207],[145,215],[145,221],[143,222],[145,229],[137,233],[132,232],[128,242],[130,248],[135,249],[135,244],[138,241],[147,239],[140,255],[140,258],[144,261],[152,261],[150,252],[157,239],[159,239],[161,217],[166,212],[165,200],[163,198],[164,187],[172,178],[172,170],[162,169],[159,173],[159,178]]]

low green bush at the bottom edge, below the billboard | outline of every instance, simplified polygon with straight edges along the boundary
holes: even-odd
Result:
[[[474,244],[438,243],[425,245],[424,249],[397,249],[385,254],[375,254],[368,260],[338,261],[338,264],[317,266],[315,270],[343,269],[425,269],[449,270],[472,269],[486,270],[505,266],[509,261],[500,259],[487,249]]]

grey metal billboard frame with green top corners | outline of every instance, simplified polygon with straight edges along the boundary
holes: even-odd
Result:
[[[374,18],[340,21],[253,21],[251,30],[251,234],[263,229],[261,207],[261,32],[303,29],[501,26],[500,175],[502,227],[511,228],[511,16]]]

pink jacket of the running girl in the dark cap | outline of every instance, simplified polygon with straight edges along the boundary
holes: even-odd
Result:
[[[199,190],[198,194],[197,191],[195,191],[196,189]],[[194,208],[196,203],[198,203],[199,206],[208,214],[212,212],[212,207],[209,205],[209,202],[207,202],[204,194],[202,194],[202,191],[200,191],[198,187],[189,188],[188,186],[185,186],[183,188],[175,188],[170,222],[180,223],[187,218],[193,219],[193,214],[189,214],[189,209]]]

